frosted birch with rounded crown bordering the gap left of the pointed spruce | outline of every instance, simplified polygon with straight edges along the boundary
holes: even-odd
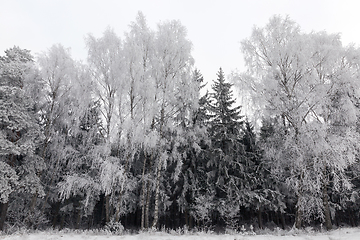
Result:
[[[167,161],[177,158],[169,156],[166,146],[167,134],[174,131],[174,115],[180,111],[177,99],[182,94],[194,88],[191,84],[190,70],[193,65],[191,43],[186,39],[186,29],[179,21],[164,22],[158,25],[154,42],[153,76],[155,79],[155,94],[153,101],[157,104],[155,129],[158,132],[158,157],[155,168],[155,205],[152,226],[157,227],[160,205],[160,179]],[[176,125],[175,125],[176,126]],[[176,155],[176,154],[175,154]]]

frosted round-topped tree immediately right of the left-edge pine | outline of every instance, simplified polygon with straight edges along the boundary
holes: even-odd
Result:
[[[51,217],[57,219],[60,199],[56,186],[67,171],[69,156],[74,153],[69,141],[76,132],[77,119],[81,115],[81,100],[77,100],[81,94],[75,91],[78,71],[70,50],[59,44],[39,54],[36,63],[43,86],[37,101],[45,135],[40,150],[46,162],[46,171],[41,173],[46,184],[42,211],[54,210]]]

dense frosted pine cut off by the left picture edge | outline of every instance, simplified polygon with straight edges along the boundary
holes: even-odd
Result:
[[[31,195],[44,194],[43,185],[37,175],[44,167],[37,155],[37,148],[43,140],[33,99],[25,91],[26,76],[33,69],[30,51],[14,47],[5,51],[0,58],[0,230],[4,228],[9,200],[17,202],[14,194],[30,202],[25,206],[27,213],[34,202]],[[18,207],[21,206],[12,206]],[[22,219],[17,219],[24,221]]]

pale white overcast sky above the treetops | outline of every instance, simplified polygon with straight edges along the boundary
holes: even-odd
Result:
[[[33,54],[60,43],[75,59],[85,59],[84,37],[100,37],[112,27],[122,36],[142,11],[151,28],[177,19],[188,30],[196,67],[207,81],[244,71],[240,41],[274,14],[297,22],[303,31],[342,33],[344,44],[360,45],[360,2],[320,0],[0,0],[0,55],[14,45]]]

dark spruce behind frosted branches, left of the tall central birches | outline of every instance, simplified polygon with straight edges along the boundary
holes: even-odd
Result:
[[[68,168],[63,180],[58,183],[61,200],[73,206],[76,228],[80,227],[83,216],[91,219],[99,201],[102,190],[99,176],[102,169],[98,167],[98,148],[105,141],[101,134],[103,129],[98,103],[90,103],[79,118],[79,129],[69,139],[73,152],[67,157]],[[101,219],[95,220],[95,224],[99,221]]]

